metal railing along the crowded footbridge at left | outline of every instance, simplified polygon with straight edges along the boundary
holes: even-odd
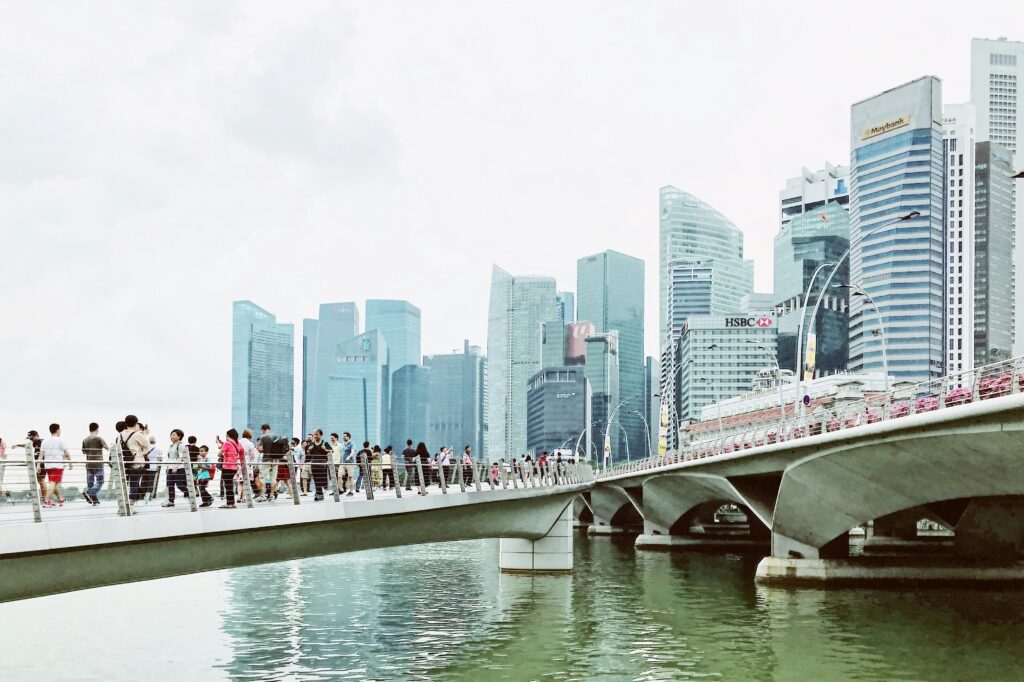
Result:
[[[364,456],[336,465],[326,460],[296,462],[289,453],[276,460],[249,462],[243,457],[237,469],[223,469],[222,463],[212,460],[135,462],[121,452],[119,443],[109,457],[99,459],[86,457],[81,450],[69,453],[70,460],[47,462],[28,443],[8,449],[0,457],[0,521],[195,512],[213,506],[217,498],[226,502],[229,489],[234,494],[234,508],[251,509],[340,502],[356,494],[373,501],[552,488],[589,483],[595,477],[588,463],[567,461],[526,463],[512,469],[461,458],[449,463],[407,463],[399,457],[387,463]],[[60,496],[48,499],[47,487],[57,481]],[[176,492],[173,504],[171,487]]]

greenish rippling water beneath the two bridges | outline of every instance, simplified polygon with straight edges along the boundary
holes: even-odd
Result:
[[[428,545],[0,605],[0,679],[1024,679],[1021,592],[766,589],[756,558],[608,539],[571,577],[497,561]]]

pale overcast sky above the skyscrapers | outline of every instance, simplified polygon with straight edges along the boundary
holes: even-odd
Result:
[[[769,291],[778,190],[848,162],[852,102],[926,74],[965,101],[971,38],[1024,40],[1024,3],[943,7],[4,2],[0,436],[212,440],[232,300],[298,331],[408,299],[450,352],[486,345],[493,263],[574,290],[605,249],[646,261],[656,355],[658,188]]]

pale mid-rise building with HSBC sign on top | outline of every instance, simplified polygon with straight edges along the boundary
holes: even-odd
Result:
[[[776,340],[771,312],[686,321],[679,340],[682,390],[675,406],[676,423],[685,426],[700,419],[705,406],[751,390],[759,372],[771,367]]]

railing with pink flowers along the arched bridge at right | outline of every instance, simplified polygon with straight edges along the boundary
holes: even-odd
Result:
[[[818,406],[808,414],[790,419],[780,419],[780,412],[776,410],[773,422],[762,422],[741,431],[723,432],[711,438],[692,441],[679,453],[620,463],[605,468],[598,477],[642,472],[692,460],[733,456],[762,445],[888,422],[908,415],[955,409],[1022,390],[1024,357],[1014,357],[916,384],[897,383],[888,393],[837,402],[829,407]]]

